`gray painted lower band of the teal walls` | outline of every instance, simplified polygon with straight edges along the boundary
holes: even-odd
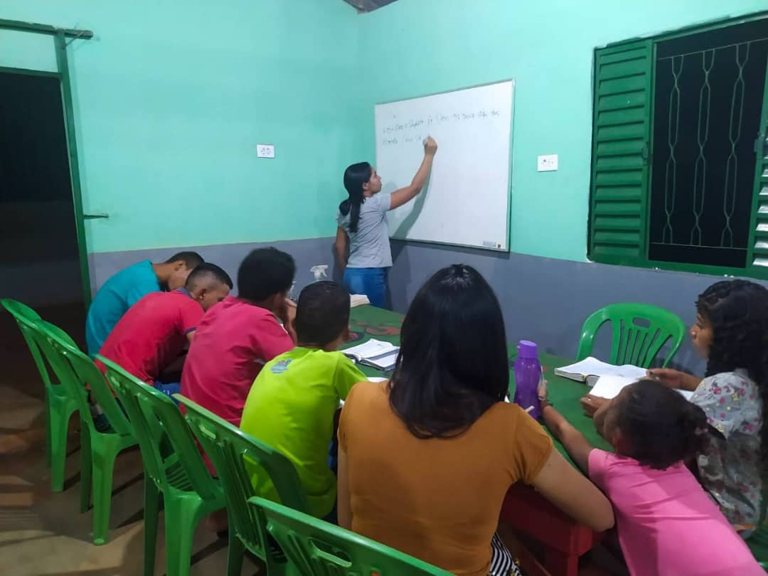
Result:
[[[196,250],[222,266],[237,283],[237,267],[253,248],[274,246],[296,259],[296,294],[313,281],[310,267],[333,266],[333,238],[287,240],[273,243],[240,243],[220,246],[134,250],[91,254],[91,286],[101,286],[109,276],[138,260],[166,260],[179,250]],[[696,314],[696,297],[719,276],[571,262],[524,254],[495,253],[437,244],[392,240],[393,266],[389,273],[392,309],[405,312],[422,283],[435,270],[453,263],[477,268],[488,279],[502,303],[508,339],[530,339],[542,350],[559,356],[576,353],[581,325],[594,310],[616,302],[662,306],[686,323]],[[334,270],[334,272],[336,272]],[[596,344],[596,355],[610,349],[607,330]],[[703,372],[703,362],[686,342],[677,354],[677,366]]]

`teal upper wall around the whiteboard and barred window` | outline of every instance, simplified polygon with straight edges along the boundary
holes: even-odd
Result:
[[[515,78],[511,250],[585,260],[594,48],[766,8],[766,0],[399,0],[359,18],[368,109]],[[372,114],[366,120],[374,157]],[[559,154],[559,170],[538,173],[538,154]]]

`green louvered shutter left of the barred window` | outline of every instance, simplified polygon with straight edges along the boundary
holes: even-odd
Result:
[[[595,51],[591,260],[646,260],[652,69],[650,39]]]

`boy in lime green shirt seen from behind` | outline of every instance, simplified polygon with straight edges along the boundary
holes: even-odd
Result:
[[[317,518],[336,504],[336,475],[328,465],[339,399],[366,379],[336,352],[349,339],[349,292],[335,282],[306,286],[296,305],[298,346],[267,362],[250,389],[240,429],[283,452],[296,466]],[[259,495],[279,500],[270,478],[253,467]]]

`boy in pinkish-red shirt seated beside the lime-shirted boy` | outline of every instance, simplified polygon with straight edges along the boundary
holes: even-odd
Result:
[[[181,375],[182,395],[240,426],[262,366],[296,341],[296,305],[288,300],[295,273],[290,254],[276,248],[248,254],[237,271],[237,297],[227,296],[197,326]]]

